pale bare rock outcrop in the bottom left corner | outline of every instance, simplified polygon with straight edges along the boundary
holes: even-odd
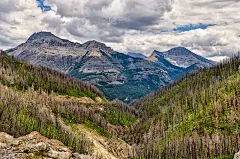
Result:
[[[91,159],[91,156],[73,153],[68,147],[57,140],[50,140],[38,132],[13,138],[0,133],[1,159]]]

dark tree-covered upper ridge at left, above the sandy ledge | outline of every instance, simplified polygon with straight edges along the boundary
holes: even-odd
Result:
[[[45,67],[34,67],[25,62],[11,59],[7,56],[0,57],[1,78],[0,82],[9,87],[26,90],[33,87],[34,90],[51,91],[61,95],[75,97],[103,97],[103,93],[95,86],[86,82],[70,78],[63,73]],[[11,78],[6,78],[10,76]]]

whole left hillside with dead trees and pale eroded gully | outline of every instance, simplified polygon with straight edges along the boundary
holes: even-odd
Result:
[[[94,86],[44,67],[0,56],[0,132],[19,137],[37,131],[93,158],[129,158],[119,137],[135,121],[107,103]],[[131,111],[129,111],[131,112]]]

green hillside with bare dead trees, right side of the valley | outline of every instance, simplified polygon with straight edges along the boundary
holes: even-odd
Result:
[[[233,158],[240,148],[239,65],[233,57],[133,103],[141,122],[131,137],[140,156]]]

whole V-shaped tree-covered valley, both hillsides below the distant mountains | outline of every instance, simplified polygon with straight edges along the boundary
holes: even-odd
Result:
[[[0,66],[0,131],[16,137],[38,131],[95,158],[220,159],[240,149],[239,56],[130,105],[5,54]]]

